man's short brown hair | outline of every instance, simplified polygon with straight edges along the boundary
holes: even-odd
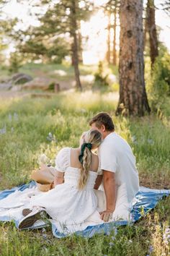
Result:
[[[112,117],[109,116],[106,112],[98,113],[96,116],[94,116],[90,121],[89,125],[96,124],[97,128],[102,127],[102,124],[104,124],[104,127],[107,131],[112,132],[115,130],[115,125],[113,124]]]

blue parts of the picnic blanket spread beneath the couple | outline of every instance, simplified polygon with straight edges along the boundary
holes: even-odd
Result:
[[[12,189],[5,189],[3,191],[0,191],[0,205],[1,200],[4,197],[7,197],[8,195],[12,194],[16,190],[24,191],[24,189],[35,187],[35,182],[30,182],[28,184],[23,184],[18,187],[13,187]],[[131,210],[131,221],[130,223],[134,223],[135,221],[138,221],[139,218],[146,215],[148,211],[155,208],[156,204],[159,200],[162,199],[164,196],[170,195],[170,189],[148,189],[146,187],[140,187],[140,191],[135,196],[135,203],[133,205],[133,208]],[[1,216],[0,221],[11,221],[11,219],[7,218],[6,216]],[[18,220],[14,220],[16,223],[16,226],[18,227]],[[85,237],[91,237],[94,236],[94,234],[109,234],[112,229],[115,229],[116,226],[123,226],[128,225],[128,221],[113,221],[110,223],[102,223],[96,226],[88,226],[84,231],[78,231],[76,232],[79,236],[85,236]],[[45,225],[37,226],[35,228],[40,228]],[[62,238],[66,236],[66,234],[59,233],[56,229],[55,225],[52,224],[52,230],[53,235]]]

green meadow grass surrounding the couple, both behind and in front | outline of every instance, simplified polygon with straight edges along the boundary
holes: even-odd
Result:
[[[169,101],[169,100],[167,100]],[[76,147],[88,121],[99,111],[113,116],[117,133],[128,140],[137,158],[140,184],[170,189],[169,104],[141,119],[115,116],[113,93],[61,93],[50,99],[14,98],[0,103],[0,189],[28,182],[42,153],[53,164],[58,150]],[[55,141],[47,140],[51,132]],[[0,223],[0,255],[169,255],[163,235],[170,225],[170,198],[133,226],[121,227],[116,239],[96,235],[56,239],[50,228],[18,231]],[[152,250],[152,252],[151,252]]]

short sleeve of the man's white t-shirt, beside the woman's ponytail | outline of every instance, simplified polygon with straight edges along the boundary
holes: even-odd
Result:
[[[116,172],[117,157],[114,148],[102,145],[99,148],[99,162],[101,170]]]

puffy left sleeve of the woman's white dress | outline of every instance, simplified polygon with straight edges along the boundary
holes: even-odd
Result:
[[[65,172],[66,168],[69,166],[70,163],[70,155],[69,155],[70,148],[62,148],[58,155],[55,158],[55,170]]]

